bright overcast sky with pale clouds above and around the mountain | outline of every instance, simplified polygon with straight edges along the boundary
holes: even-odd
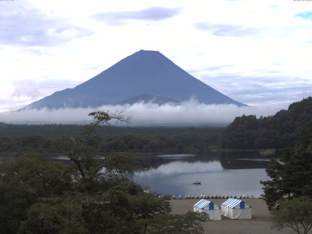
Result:
[[[259,107],[312,95],[312,1],[0,1],[0,112],[158,50]]]

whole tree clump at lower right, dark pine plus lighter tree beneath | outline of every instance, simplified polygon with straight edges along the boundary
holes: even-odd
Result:
[[[307,234],[312,228],[312,121],[305,123],[294,148],[272,160],[266,172],[265,201],[273,215],[273,228],[291,228]]]

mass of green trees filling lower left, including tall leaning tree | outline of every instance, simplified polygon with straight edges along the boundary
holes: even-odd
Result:
[[[160,227],[163,233],[201,234],[207,218],[170,215],[169,197],[145,193],[124,175],[137,170],[132,160],[117,155],[100,161],[88,144],[99,126],[129,118],[102,111],[90,116],[94,121],[80,137],[59,139],[68,165],[35,155],[0,164],[1,234],[153,234]]]

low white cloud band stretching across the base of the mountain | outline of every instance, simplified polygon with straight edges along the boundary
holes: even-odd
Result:
[[[123,110],[125,116],[132,116],[132,125],[226,125],[235,117],[245,115],[269,116],[280,108],[237,107],[235,105],[206,105],[196,100],[183,102],[181,105],[154,103],[136,103],[134,105],[106,105],[98,110]],[[0,114],[0,121],[7,123],[88,123],[88,113],[92,108],[58,110],[23,110]]]

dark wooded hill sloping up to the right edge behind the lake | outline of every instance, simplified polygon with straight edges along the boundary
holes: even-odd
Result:
[[[272,117],[241,116],[222,132],[220,146],[236,149],[293,147],[312,121],[312,97],[292,103]]]

